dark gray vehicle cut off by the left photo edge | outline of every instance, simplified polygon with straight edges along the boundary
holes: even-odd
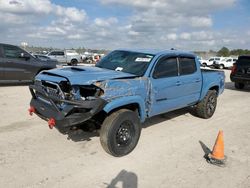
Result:
[[[18,46],[0,43],[0,82],[31,81],[42,70],[53,68],[54,61],[42,61]]]

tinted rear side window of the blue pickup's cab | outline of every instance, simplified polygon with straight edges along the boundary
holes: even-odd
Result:
[[[196,63],[194,57],[179,57],[180,75],[188,75],[196,72]]]

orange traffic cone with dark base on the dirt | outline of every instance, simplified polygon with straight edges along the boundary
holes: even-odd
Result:
[[[208,155],[209,162],[215,165],[224,165],[226,156],[224,155],[224,139],[223,131],[219,131],[215,141],[213,151]]]

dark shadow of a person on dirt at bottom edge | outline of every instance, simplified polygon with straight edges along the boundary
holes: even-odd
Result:
[[[122,170],[112,181],[110,184],[107,184],[107,188],[116,188],[117,184],[121,183],[122,188],[137,188],[138,187],[138,177],[134,172],[128,172],[126,170]],[[120,186],[119,186],[120,187]]]

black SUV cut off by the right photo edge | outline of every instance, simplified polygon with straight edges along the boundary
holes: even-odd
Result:
[[[246,84],[250,84],[250,55],[239,56],[233,65],[230,78],[236,89],[243,89]]]

